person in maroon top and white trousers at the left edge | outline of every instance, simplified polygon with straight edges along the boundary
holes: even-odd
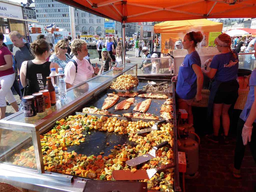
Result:
[[[11,87],[15,80],[15,72],[12,67],[12,53],[8,48],[3,46],[4,39],[4,34],[0,32],[0,119],[5,118],[5,98],[9,101],[16,112],[19,111],[17,101],[11,91]]]

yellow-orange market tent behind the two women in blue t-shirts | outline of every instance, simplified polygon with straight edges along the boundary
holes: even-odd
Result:
[[[191,32],[201,31],[204,35],[200,47],[213,46],[212,39],[222,31],[222,23],[207,19],[165,21],[154,26],[154,32],[161,34],[161,53],[175,49],[175,42]],[[219,33],[215,33],[219,32]]]

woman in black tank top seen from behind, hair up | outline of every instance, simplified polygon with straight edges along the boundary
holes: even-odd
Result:
[[[24,61],[20,69],[20,80],[25,87],[26,79],[29,80],[29,87],[33,93],[43,90],[46,86],[46,77],[50,75],[50,69],[56,68],[58,73],[59,65],[46,61],[50,54],[49,44],[43,39],[37,39],[30,44],[30,50],[35,59]]]

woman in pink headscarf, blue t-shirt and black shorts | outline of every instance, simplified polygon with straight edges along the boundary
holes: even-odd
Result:
[[[213,59],[208,59],[206,65],[211,61],[210,70],[202,68],[202,72],[210,79],[214,78],[208,102],[208,116],[213,112],[213,134],[206,135],[207,139],[219,143],[220,116],[224,130],[224,143],[229,143],[229,108],[234,105],[238,98],[239,84],[237,73],[239,67],[238,55],[231,50],[231,37],[220,34],[214,43],[220,54]]]

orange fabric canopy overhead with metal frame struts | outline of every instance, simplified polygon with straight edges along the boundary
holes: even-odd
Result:
[[[145,22],[256,16],[256,0],[58,0],[116,21]]]

